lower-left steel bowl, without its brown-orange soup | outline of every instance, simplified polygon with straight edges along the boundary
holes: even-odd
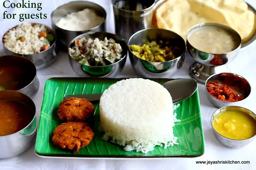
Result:
[[[12,158],[28,150],[34,143],[36,135],[36,106],[25,94],[11,90],[0,91],[0,100],[17,101],[30,107],[34,113],[33,120],[22,130],[11,135],[0,136],[0,159]]]

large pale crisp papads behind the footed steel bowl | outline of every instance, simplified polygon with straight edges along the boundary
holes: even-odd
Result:
[[[158,28],[174,31],[185,41],[191,27],[209,22],[227,25],[244,39],[254,29],[254,13],[243,0],[166,0],[156,10]]]

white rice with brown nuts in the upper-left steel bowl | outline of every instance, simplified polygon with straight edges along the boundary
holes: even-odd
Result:
[[[40,53],[41,47],[46,44],[43,42],[44,37],[38,37],[41,31],[47,32],[42,24],[22,23],[4,35],[4,46],[14,53],[23,55]],[[20,41],[20,37],[24,37],[25,41]]]

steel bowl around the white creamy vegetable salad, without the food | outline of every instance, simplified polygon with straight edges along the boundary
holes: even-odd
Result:
[[[76,74],[80,77],[115,78],[116,75],[122,71],[122,69],[124,68],[124,64],[126,62],[128,47],[127,47],[124,39],[122,39],[121,37],[118,37],[117,35],[114,35],[112,33],[107,33],[107,32],[88,32],[88,33],[84,33],[82,35],[78,35],[76,38],[74,38],[71,41],[69,48],[74,47],[76,40],[81,39],[83,37],[85,37],[86,39],[99,38],[100,40],[104,40],[105,37],[107,37],[108,39],[110,39],[110,38],[114,39],[116,41],[116,43],[119,43],[122,47],[122,57],[118,62],[116,62],[114,64],[107,65],[107,66],[87,66],[87,65],[83,65],[83,64],[80,64],[77,61],[75,61],[68,53],[69,62],[71,64],[74,72],[76,72]]]

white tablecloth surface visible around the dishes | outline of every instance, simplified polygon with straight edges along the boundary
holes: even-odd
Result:
[[[11,2],[21,2],[21,0],[10,0]],[[30,0],[30,2],[43,2],[40,12],[46,13],[46,20],[26,20],[38,23],[44,23],[51,26],[50,14],[57,6],[68,2],[69,0]],[[14,20],[2,19],[3,11],[8,13],[38,13],[36,9],[5,9],[0,4],[0,37],[11,27],[20,24],[18,17]],[[27,0],[25,0],[27,2]],[[114,33],[114,16],[112,6],[109,0],[94,0],[102,5],[107,11],[107,31]],[[256,0],[247,0],[256,8]],[[243,21],[241,21],[243,24]],[[2,42],[0,42],[0,51],[2,51]],[[242,50],[238,57],[228,65],[231,72],[244,76],[252,85],[252,93],[244,107],[256,113],[254,96],[256,96],[256,43]],[[173,78],[190,78],[188,68],[193,63],[192,57],[186,55],[185,62],[180,71]],[[38,71],[40,79],[40,89],[34,97],[37,108],[37,117],[40,115],[44,84],[51,77],[77,77],[72,70],[68,56],[60,53],[58,60],[44,70]],[[119,77],[137,77],[133,71],[129,59],[126,61],[124,70]],[[1,170],[256,170],[256,141],[243,149],[229,149],[222,146],[213,136],[210,125],[210,117],[216,108],[207,100],[203,85],[198,86],[201,104],[202,121],[204,127],[205,152],[198,158],[168,158],[156,160],[86,160],[86,159],[55,159],[40,158],[34,152],[34,146],[28,151],[15,158],[0,160]],[[235,160],[250,161],[250,164],[196,164],[196,160]]]

